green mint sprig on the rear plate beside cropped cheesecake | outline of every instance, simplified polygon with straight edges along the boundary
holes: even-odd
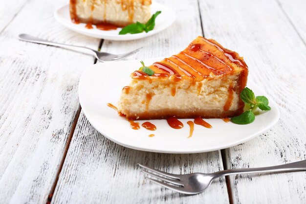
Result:
[[[161,11],[157,11],[156,13],[154,13],[151,19],[147,23],[137,22],[123,27],[122,30],[119,32],[119,35],[125,35],[128,33],[136,34],[136,33],[142,33],[143,31],[147,33],[153,30],[155,26],[155,19],[160,13]]]

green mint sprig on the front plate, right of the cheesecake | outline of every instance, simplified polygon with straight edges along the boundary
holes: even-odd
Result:
[[[249,109],[236,117],[232,117],[231,121],[233,123],[240,125],[252,123],[255,120],[254,111],[257,107],[262,111],[271,110],[269,100],[265,96],[255,97],[254,92],[247,87],[241,91],[240,98],[245,105],[248,105]]]

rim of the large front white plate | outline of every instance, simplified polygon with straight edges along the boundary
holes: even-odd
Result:
[[[147,59],[144,59],[144,61],[146,60],[159,60],[160,58],[147,58]],[[135,61],[135,62],[138,62],[138,60],[127,60],[127,61],[124,61],[124,62],[131,62],[131,61]],[[119,61],[120,62],[120,61]],[[121,61],[122,62],[122,61]],[[112,64],[112,63],[116,63],[116,62],[107,62],[107,63],[103,63],[103,64]],[[212,151],[217,151],[217,150],[221,150],[221,149],[226,149],[226,148],[230,148],[230,147],[233,147],[233,146],[236,146],[236,145],[239,145],[241,143],[244,143],[246,141],[249,141],[253,138],[255,138],[256,136],[260,136],[262,133],[264,133],[265,131],[267,131],[268,129],[270,129],[272,126],[274,126],[278,121],[279,121],[279,118],[280,118],[280,111],[279,111],[279,108],[278,108],[278,105],[277,103],[271,98],[269,97],[269,104],[273,104],[273,107],[275,107],[276,109],[274,110],[275,111],[275,114],[276,116],[273,118],[273,120],[269,123],[269,125],[265,126],[263,130],[261,131],[257,131],[257,132],[254,132],[252,134],[249,134],[247,137],[243,137],[239,140],[235,140],[233,142],[230,142],[228,144],[224,144],[224,145],[217,145],[217,147],[214,147],[214,148],[205,148],[205,150],[199,150],[199,149],[196,149],[196,150],[180,150],[180,151],[172,151],[172,150],[156,150],[156,149],[153,149],[153,148],[141,148],[139,146],[136,146],[136,145],[131,145],[131,144],[126,144],[126,143],[123,143],[111,136],[108,136],[108,134],[106,133],[103,133],[103,131],[100,131],[101,129],[96,127],[95,123],[92,121],[91,117],[87,117],[87,115],[90,115],[90,113],[88,113],[87,109],[84,108],[84,103],[80,97],[80,92],[81,92],[81,83],[83,82],[83,78],[85,77],[85,73],[89,70],[89,69],[92,69],[92,68],[95,68],[95,67],[98,67],[101,63],[99,64],[94,64],[94,65],[91,65],[91,66],[88,66],[81,74],[81,77],[80,77],[80,80],[79,80],[79,86],[78,86],[78,95],[79,95],[79,102],[80,102],[80,105],[82,107],[82,111],[84,113],[84,115],[86,116],[87,120],[89,121],[90,125],[92,125],[92,127],[98,131],[102,136],[105,136],[106,138],[108,138],[109,140],[121,145],[121,146],[124,146],[124,147],[128,147],[128,148],[131,148],[131,149],[135,149],[135,150],[140,150],[140,151],[146,151],[146,152],[155,152],[155,153],[167,153],[167,154],[196,154],[196,153],[204,153],[204,152],[212,152]],[[251,80],[248,78],[248,82],[250,82]],[[260,89],[259,86],[257,86],[254,82],[251,81],[251,84],[252,84],[252,87],[256,87],[258,89]],[[262,89],[260,89],[262,90]],[[265,91],[262,91],[265,95],[267,95],[265,93]],[[107,132],[107,131],[106,131]]]

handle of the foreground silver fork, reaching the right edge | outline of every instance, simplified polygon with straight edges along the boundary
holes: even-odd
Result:
[[[306,170],[306,160],[287,163],[278,166],[268,166],[260,168],[245,168],[245,169],[228,169],[213,173],[214,178],[228,176],[233,174],[248,174],[248,173],[268,173],[268,172],[289,172]]]

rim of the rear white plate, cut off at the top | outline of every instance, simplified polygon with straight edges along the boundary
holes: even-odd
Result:
[[[86,36],[93,37],[93,38],[105,39],[105,40],[130,41],[130,40],[138,40],[138,39],[146,38],[146,37],[152,36],[154,34],[157,34],[161,31],[167,29],[168,27],[170,27],[175,22],[176,13],[172,8],[170,8],[169,6],[166,6],[164,4],[155,2],[155,1],[152,2],[152,4],[155,7],[161,7],[161,8],[169,10],[169,12],[171,12],[171,17],[172,18],[161,29],[153,29],[152,31],[150,31],[148,33],[142,32],[142,33],[136,33],[136,34],[127,34],[127,35],[119,35],[119,34],[113,35],[113,34],[105,33],[107,31],[101,31],[101,32],[103,32],[102,34],[96,34],[96,33],[92,33],[91,29],[87,29],[87,30],[76,29],[76,28],[73,27],[74,24],[72,24],[71,22],[66,23],[65,21],[62,21],[61,18],[64,18],[64,17],[59,14],[60,10],[64,9],[65,7],[68,7],[67,10],[69,11],[69,3],[66,3],[66,4],[58,7],[57,9],[55,9],[55,11],[53,12],[53,16],[54,16],[54,18],[57,22],[64,25],[67,29],[69,29],[73,32],[77,32],[77,33],[82,34],[82,35],[86,35]],[[151,6],[152,6],[152,4],[151,4]]]

